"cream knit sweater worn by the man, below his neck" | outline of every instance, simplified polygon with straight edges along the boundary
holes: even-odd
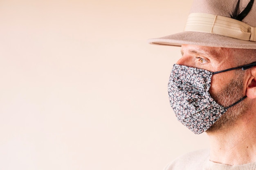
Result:
[[[164,170],[256,170],[256,162],[230,166],[209,160],[209,150],[199,150],[183,155]]]

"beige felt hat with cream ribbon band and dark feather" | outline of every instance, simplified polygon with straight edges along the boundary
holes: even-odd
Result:
[[[254,0],[194,0],[184,31],[150,44],[256,49]]]

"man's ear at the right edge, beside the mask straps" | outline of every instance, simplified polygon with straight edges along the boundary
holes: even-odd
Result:
[[[248,98],[256,98],[256,67],[250,69],[249,79],[247,79],[246,96]]]

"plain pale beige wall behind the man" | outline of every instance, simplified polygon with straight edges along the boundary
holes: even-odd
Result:
[[[207,148],[167,83],[191,0],[1,0],[0,170],[162,170]]]

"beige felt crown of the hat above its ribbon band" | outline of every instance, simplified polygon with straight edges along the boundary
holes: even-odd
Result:
[[[191,13],[210,13],[218,16],[231,18],[233,13],[241,13],[249,4],[250,0],[194,0]],[[239,3],[238,9],[236,6]],[[252,4],[252,9],[242,20],[251,27],[256,27],[256,2]]]

